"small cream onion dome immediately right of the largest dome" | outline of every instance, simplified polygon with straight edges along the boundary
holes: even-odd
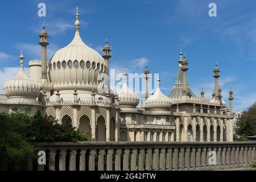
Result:
[[[127,73],[123,72],[123,84],[122,88],[119,90],[119,106],[130,106],[136,107],[139,104],[139,96],[133,93],[127,86],[126,82]]]

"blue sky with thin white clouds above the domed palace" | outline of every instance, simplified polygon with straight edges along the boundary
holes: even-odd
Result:
[[[46,3],[46,17],[38,16],[40,2]],[[217,5],[217,17],[208,16],[210,2]],[[49,34],[48,59],[71,42],[76,6],[80,35],[88,46],[100,52],[108,37],[111,68],[141,73],[148,64],[152,73],[159,73],[168,95],[182,49],[189,63],[188,82],[197,96],[202,86],[208,97],[212,94],[217,61],[224,100],[228,103],[232,86],[234,110],[245,110],[256,101],[254,0],[1,1],[1,85],[16,74],[20,49],[26,66],[40,59],[43,22]]]

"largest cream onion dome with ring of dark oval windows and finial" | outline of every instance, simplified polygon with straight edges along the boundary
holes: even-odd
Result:
[[[96,88],[98,76],[106,73],[104,58],[86,46],[80,37],[78,11],[75,25],[76,34],[72,42],[55,52],[49,63],[50,80],[55,90],[70,86],[77,89]]]

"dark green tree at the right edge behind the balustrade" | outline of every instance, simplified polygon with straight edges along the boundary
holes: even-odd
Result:
[[[243,137],[256,135],[256,103],[245,111],[237,122],[236,133]]]

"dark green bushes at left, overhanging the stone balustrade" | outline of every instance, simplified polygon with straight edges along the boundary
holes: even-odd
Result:
[[[36,156],[36,142],[89,141],[72,125],[61,125],[40,113],[30,117],[24,113],[0,114],[0,158],[22,162]]]

